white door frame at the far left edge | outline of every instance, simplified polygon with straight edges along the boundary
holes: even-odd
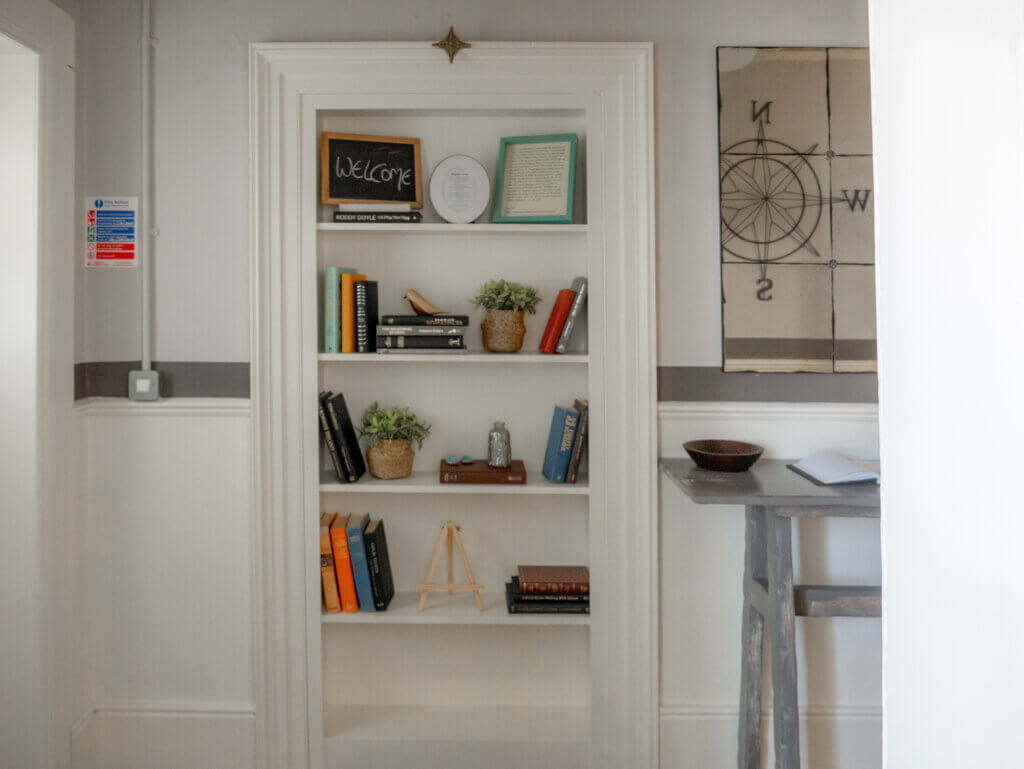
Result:
[[[24,753],[33,767],[71,765],[71,729],[87,696],[69,696],[71,682],[82,681],[81,634],[73,634],[76,610],[68,568],[84,543],[69,536],[74,512],[75,366],[75,23],[50,2],[0,6],[0,33],[39,56],[37,170],[37,443],[34,568],[25,585],[38,596],[30,627],[39,656],[39,689],[27,692],[27,718],[40,728],[23,734]],[[9,618],[9,617],[8,617]],[[35,744],[33,744],[35,743]]]

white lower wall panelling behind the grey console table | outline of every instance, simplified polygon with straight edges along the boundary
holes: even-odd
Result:
[[[749,440],[779,459],[821,448],[864,459],[879,456],[873,404],[663,402],[658,415],[663,457],[685,456],[683,442],[696,438]],[[662,768],[732,769],[743,511],[695,505],[664,476],[659,496]],[[794,557],[798,582],[878,584],[879,523],[800,521]],[[881,767],[881,621],[802,618],[797,634],[804,765]],[[770,701],[765,698],[768,711]],[[765,727],[770,729],[770,720]],[[770,750],[770,731],[765,734]]]

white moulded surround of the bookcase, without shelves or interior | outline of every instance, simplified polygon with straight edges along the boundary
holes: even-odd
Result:
[[[316,494],[303,457],[316,451],[301,418],[315,379],[308,365],[314,286],[302,255],[315,242],[300,183],[314,155],[303,152],[303,115],[317,99],[359,103],[410,94],[436,103],[546,94],[595,106],[607,137],[592,180],[603,184],[602,238],[613,242],[616,304],[604,319],[612,357],[600,382],[609,434],[602,448],[616,472],[601,484],[603,517],[591,532],[591,580],[604,610],[591,616],[591,766],[654,769],[658,744],[658,562],[654,383],[653,47],[649,43],[474,42],[472,68],[455,69],[430,42],[260,43],[250,46],[250,312],[253,422],[253,611],[259,769],[318,769],[322,721],[319,616],[307,613],[309,540],[302,516]],[[462,60],[462,59],[461,59]],[[465,59],[469,61],[469,59]],[[510,75],[514,73],[514,77]],[[414,85],[415,81],[415,85]],[[421,82],[422,81],[422,82]],[[396,85],[398,88],[396,90]],[[394,91],[396,96],[388,96]],[[353,95],[354,94],[354,95]],[[526,94],[524,96],[523,94]],[[532,96],[530,96],[532,94]],[[462,99],[460,102],[459,100]],[[592,138],[592,134],[588,134]],[[613,137],[613,138],[611,138]],[[612,143],[614,142],[614,143]],[[308,143],[308,136],[307,142]],[[593,149],[593,143],[591,148]],[[303,168],[305,170],[303,171]],[[313,172],[314,173],[314,172]],[[595,206],[593,200],[589,201]],[[592,226],[598,226],[591,224]],[[625,254],[629,254],[627,261]],[[611,265],[611,266],[609,266]],[[592,285],[592,288],[593,285]],[[609,301],[606,299],[606,301]],[[609,319],[610,318],[610,319]],[[612,347],[612,344],[614,345]],[[593,443],[592,443],[593,446]],[[593,450],[592,450],[593,451]],[[606,502],[605,502],[606,501]],[[595,544],[596,543],[596,544]],[[317,561],[318,562],[318,561]],[[594,564],[597,564],[595,567]],[[317,567],[318,568],[318,567]],[[316,572],[318,573],[318,571]],[[310,586],[312,586],[310,588]],[[318,602],[317,602],[318,603]],[[322,729],[317,729],[322,731]]]

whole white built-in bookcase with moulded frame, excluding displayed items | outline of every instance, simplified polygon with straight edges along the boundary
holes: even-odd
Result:
[[[252,46],[259,767],[656,765],[651,68],[649,44],[474,42],[451,65],[429,43]],[[419,136],[425,178],[455,153],[493,172],[502,136],[575,132],[577,223],[447,225],[425,204],[421,225],[330,224],[317,197],[322,130]],[[408,288],[468,310],[483,280],[531,283],[544,302],[524,353],[557,290],[587,274],[588,333],[564,360],[516,358],[539,365],[324,356],[317,287],[329,264],[378,280],[381,312],[401,311]],[[475,326],[468,342],[480,346]],[[381,400],[433,423],[407,485],[321,485],[321,387],[344,391],[356,419]],[[551,409],[584,395],[588,483],[552,494],[562,489],[540,475]],[[479,452],[495,419],[537,482],[521,494],[437,487],[438,460]],[[387,522],[399,591],[388,612],[323,622],[322,509]],[[490,606],[516,563],[588,563],[589,622],[517,622],[470,604],[417,612],[401,594],[422,579],[445,518],[463,524]]]

